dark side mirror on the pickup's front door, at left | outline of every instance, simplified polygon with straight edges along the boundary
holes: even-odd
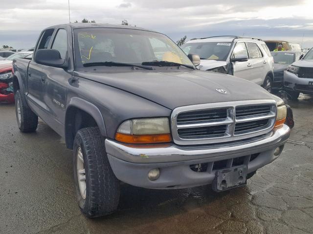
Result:
[[[34,60],[35,62],[46,66],[60,68],[67,67],[65,59],[61,58],[60,52],[54,49],[37,50],[34,55]]]

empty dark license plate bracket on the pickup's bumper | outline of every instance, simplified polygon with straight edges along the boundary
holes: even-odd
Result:
[[[228,189],[246,185],[247,166],[241,165],[215,172],[212,189],[222,192]]]

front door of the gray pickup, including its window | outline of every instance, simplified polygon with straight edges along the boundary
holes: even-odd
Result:
[[[61,58],[67,60],[67,31],[65,29],[57,30],[51,43],[51,49],[58,50]],[[63,68],[45,65],[43,65],[43,73],[45,74],[43,101],[49,115],[47,121],[53,121],[50,126],[55,126],[54,130],[63,136],[67,84],[71,79],[71,73]]]

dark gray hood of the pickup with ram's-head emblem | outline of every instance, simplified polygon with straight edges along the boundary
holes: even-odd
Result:
[[[74,76],[124,90],[172,110],[179,106],[203,103],[273,99],[265,89],[252,82],[214,72],[199,70],[123,72],[121,69],[104,71],[104,69],[75,71]],[[227,93],[219,93],[216,89],[224,89]]]

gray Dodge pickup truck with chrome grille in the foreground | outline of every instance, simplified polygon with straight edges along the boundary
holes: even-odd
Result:
[[[120,182],[150,189],[244,186],[290,136],[286,106],[260,86],[200,71],[163,34],[110,24],[46,28],[13,62],[21,132],[40,117],[73,149],[78,203],[108,215]]]

